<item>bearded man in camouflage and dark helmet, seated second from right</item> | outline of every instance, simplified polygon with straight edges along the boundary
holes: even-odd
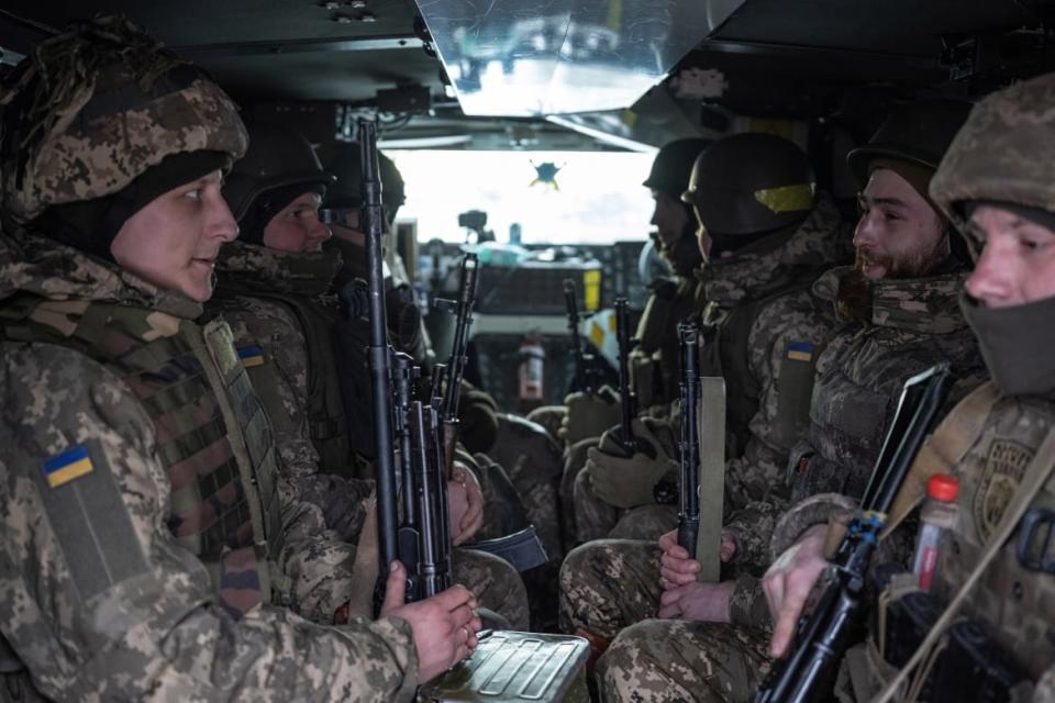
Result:
[[[789,459],[792,496],[831,487],[859,495],[904,380],[940,361],[951,362],[960,376],[978,370],[977,348],[956,303],[963,265],[951,256],[947,223],[926,196],[930,176],[966,110],[952,101],[908,105],[849,155],[863,186],[857,261],[813,286],[815,295],[832,302],[842,326],[817,360],[810,425]],[[612,695],[659,690],[654,687],[662,682],[671,693],[660,700],[675,700],[677,691],[697,685],[713,694],[703,700],[743,700],[743,692],[757,684],[768,666],[771,621],[762,583],[752,573],[771,562],[770,543],[780,544],[786,532],[774,524],[787,504],[785,494],[771,492],[728,518],[725,556],[741,576],[722,584],[725,591],[695,583],[698,565],[671,535],[664,536],[658,614],[707,621],[689,628],[700,646],[682,648],[673,665],[653,663],[653,657],[670,654],[648,643],[675,625],[648,621],[628,629],[603,660],[603,685]],[[738,644],[715,649],[723,637]],[[715,663],[730,662],[751,662],[744,671],[752,676],[731,680],[728,669],[709,673]]]

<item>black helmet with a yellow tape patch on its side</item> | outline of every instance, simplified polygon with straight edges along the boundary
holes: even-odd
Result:
[[[709,232],[751,235],[801,222],[814,205],[813,168],[771,134],[734,134],[696,158],[681,200]]]

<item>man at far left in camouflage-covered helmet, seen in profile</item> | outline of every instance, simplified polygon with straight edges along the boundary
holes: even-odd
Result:
[[[471,594],[402,605],[397,563],[379,620],[298,615],[333,620],[314,557],[343,543],[277,475],[230,328],[193,323],[236,234],[234,104],[112,18],[0,102],[4,691],[409,701],[474,646]]]

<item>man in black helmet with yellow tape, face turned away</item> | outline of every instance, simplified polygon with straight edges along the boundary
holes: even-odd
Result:
[[[711,337],[703,373],[722,376],[728,386],[730,509],[763,499],[781,478],[807,419],[812,349],[834,326],[831,308],[811,295],[810,284],[842,260],[845,237],[830,198],[814,209],[812,180],[806,155],[790,142],[741,134],[700,155],[685,193],[700,222],[700,247],[712,254],[701,274]],[[764,204],[770,194],[785,200]],[[673,528],[676,427],[638,423],[654,457],[626,458],[610,436],[589,450],[575,488],[580,540],[655,539]],[[657,495],[668,504],[657,509]],[[649,507],[622,517],[642,505]]]

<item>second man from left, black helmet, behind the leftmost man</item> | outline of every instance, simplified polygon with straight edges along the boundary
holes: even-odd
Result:
[[[216,260],[219,290],[210,308],[230,323],[253,387],[275,419],[281,466],[290,482],[324,515],[334,516],[331,528],[356,544],[364,534],[358,506],[371,496],[374,482],[346,478],[349,445],[358,437],[347,438],[346,403],[333,382],[337,312],[336,302],[325,293],[341,257],[322,250],[330,228],[319,221],[322,196],[333,180],[303,136],[285,127],[251,125],[248,152],[223,187],[240,231],[238,239]],[[360,255],[365,256],[362,250]],[[368,405],[368,399],[347,400]],[[362,433],[359,428],[357,434]],[[484,522],[479,483],[460,462],[455,465],[448,495],[451,534],[460,545]],[[373,511],[362,512],[373,523]],[[376,563],[377,545],[364,548],[370,554],[357,558]],[[509,563],[463,549],[454,557],[455,579],[485,607],[508,617],[515,628],[528,627],[524,587]],[[357,590],[368,595],[376,569],[367,571],[370,576]],[[357,614],[367,615],[369,598],[356,600]]]

